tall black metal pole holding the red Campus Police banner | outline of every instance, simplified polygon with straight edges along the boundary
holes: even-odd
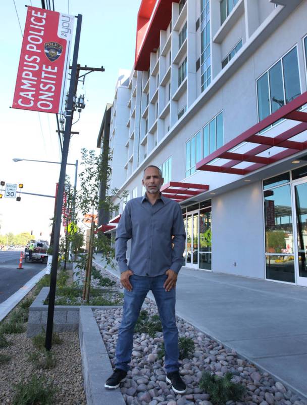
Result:
[[[68,103],[67,103],[67,114],[66,114],[65,131],[64,131],[64,142],[63,142],[63,153],[62,153],[61,170],[60,170],[60,178],[59,178],[59,189],[58,189],[58,196],[57,196],[55,237],[54,237],[54,246],[53,246],[51,276],[50,276],[49,303],[48,303],[47,328],[46,328],[46,339],[45,339],[46,350],[50,350],[51,346],[52,346],[52,331],[53,331],[53,321],[54,321],[54,311],[55,311],[55,297],[56,297],[56,285],[57,285],[62,206],[63,206],[63,195],[64,195],[64,185],[65,185],[65,175],[66,175],[66,164],[67,164],[67,156],[68,156],[68,149],[69,149],[70,132],[71,132],[71,126],[72,126],[73,96],[75,93],[75,78],[76,78],[76,72],[77,72],[77,61],[78,61],[78,52],[79,52],[81,24],[82,24],[82,15],[78,14],[74,55],[73,55],[73,63],[72,63],[71,79],[70,79],[70,85],[69,85]]]

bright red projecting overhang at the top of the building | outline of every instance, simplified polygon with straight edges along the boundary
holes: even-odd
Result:
[[[148,70],[150,52],[160,44],[160,30],[167,29],[172,17],[172,3],[179,0],[142,0],[137,14],[135,70]],[[151,14],[154,13],[151,17]],[[150,20],[151,18],[151,20]]]

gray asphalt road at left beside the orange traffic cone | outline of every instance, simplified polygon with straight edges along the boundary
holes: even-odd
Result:
[[[23,269],[17,269],[19,265],[20,251],[0,251],[0,303],[11,297],[34,275],[46,267],[42,263],[25,263]]]

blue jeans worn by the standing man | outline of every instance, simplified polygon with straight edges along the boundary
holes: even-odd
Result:
[[[128,363],[131,361],[135,323],[143,301],[148,291],[151,290],[155,296],[162,322],[166,372],[179,370],[178,329],[175,318],[176,290],[173,288],[171,291],[165,291],[163,284],[166,279],[166,274],[156,277],[132,274],[129,277],[132,291],[125,289],[124,293],[124,312],[116,347],[115,367],[117,369],[130,370]]]

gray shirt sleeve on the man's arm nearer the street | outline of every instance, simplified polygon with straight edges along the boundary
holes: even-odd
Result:
[[[132,237],[132,221],[129,201],[119,221],[115,237],[115,259],[120,272],[129,270],[127,265],[127,242]]]

